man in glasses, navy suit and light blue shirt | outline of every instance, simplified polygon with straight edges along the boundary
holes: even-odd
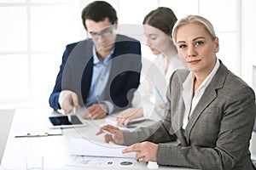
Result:
[[[88,39],[67,45],[49,105],[65,113],[85,106],[86,118],[98,119],[131,106],[140,79],[141,46],[115,34],[117,15],[106,2],[82,11]]]

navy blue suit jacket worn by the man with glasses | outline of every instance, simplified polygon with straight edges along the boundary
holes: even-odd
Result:
[[[58,104],[61,90],[75,92],[79,96],[79,105],[85,105],[93,71],[92,47],[90,39],[67,45],[55,87],[49,97],[49,105],[54,110],[61,109]],[[117,35],[111,62],[107,87],[98,103],[108,100],[113,102],[114,111],[119,111],[131,106],[133,92],[139,84],[142,68],[140,42]]]

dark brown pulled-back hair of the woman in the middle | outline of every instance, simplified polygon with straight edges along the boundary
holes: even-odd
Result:
[[[145,16],[143,25],[154,26],[172,37],[172,28],[176,21],[177,17],[171,8],[159,7]]]

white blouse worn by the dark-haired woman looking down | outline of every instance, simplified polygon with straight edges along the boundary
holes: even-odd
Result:
[[[143,106],[143,115],[154,120],[160,120],[164,115],[164,109],[160,108],[160,104],[163,104],[163,100],[166,103],[166,90],[172,73],[184,68],[181,59],[176,55],[165,71],[167,61],[164,54],[157,55],[153,62],[143,59],[141,83],[132,99],[133,107]]]

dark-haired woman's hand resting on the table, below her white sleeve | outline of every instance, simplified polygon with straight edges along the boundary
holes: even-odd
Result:
[[[143,107],[128,108],[125,111],[122,111],[119,113],[119,116],[116,117],[116,121],[119,126],[122,126],[122,125],[127,126],[132,119],[136,119],[142,116],[143,116]]]

